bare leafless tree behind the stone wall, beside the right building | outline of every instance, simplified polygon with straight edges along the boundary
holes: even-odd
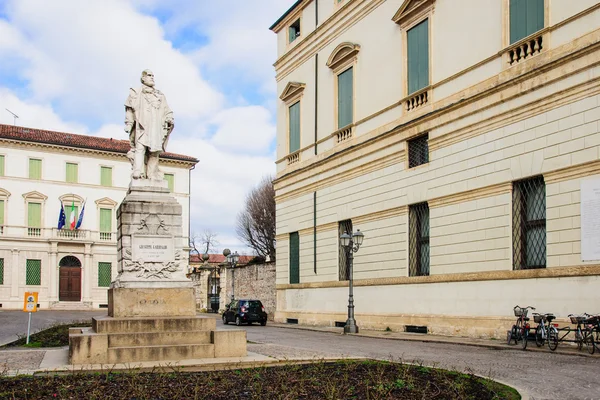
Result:
[[[271,176],[265,176],[246,196],[235,231],[257,255],[275,261],[275,188]]]

